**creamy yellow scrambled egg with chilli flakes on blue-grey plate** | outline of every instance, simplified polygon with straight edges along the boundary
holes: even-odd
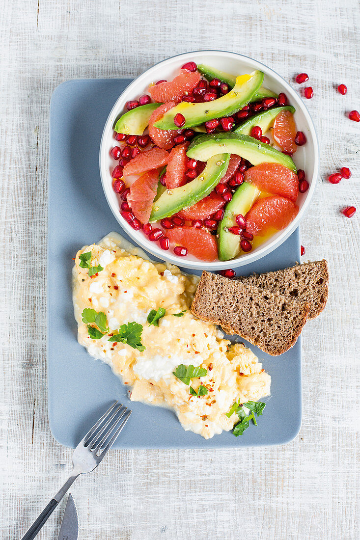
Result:
[[[79,256],[90,251],[91,266],[103,268],[91,277],[88,268],[79,266]],[[116,233],[78,251],[73,273],[78,342],[132,387],[132,401],[171,408],[185,430],[204,438],[229,431],[238,422],[236,413],[226,416],[234,401],[269,395],[270,376],[251,350],[242,343],[231,345],[214,324],[191,314],[199,276],[145,259],[145,253]],[[149,326],[149,312],[160,307],[165,315],[158,326]],[[90,338],[82,321],[84,308],[106,315],[109,331],[101,339]],[[183,311],[183,316],[174,316]],[[109,334],[132,321],[143,326],[143,351],[108,341]],[[181,364],[206,369],[205,376],[190,382],[196,392],[205,386],[206,395],[191,395],[189,386],[173,375]]]

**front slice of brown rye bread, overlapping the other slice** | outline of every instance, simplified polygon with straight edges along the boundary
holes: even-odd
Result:
[[[308,317],[309,305],[204,271],[191,313],[276,356],[296,342]]]

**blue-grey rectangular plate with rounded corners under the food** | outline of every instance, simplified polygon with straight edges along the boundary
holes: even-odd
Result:
[[[210,440],[184,431],[169,410],[131,402],[128,389],[109,366],[77,343],[71,299],[72,257],[110,231],[125,233],[103,194],[98,154],[103,126],[129,79],[70,80],[58,86],[50,108],[48,246],[48,391],[50,429],[58,442],[75,447],[118,399],[132,409],[115,448],[236,448],[284,444],[301,426],[301,340],[271,357],[249,345],[271,375],[258,427]],[[291,266],[300,259],[295,231],[276,251],[239,269],[244,275]],[[234,338],[231,338],[234,340]]]

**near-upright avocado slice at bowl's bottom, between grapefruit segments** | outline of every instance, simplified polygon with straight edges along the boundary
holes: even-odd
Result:
[[[238,214],[245,216],[258,198],[260,191],[253,185],[244,182],[236,188],[231,201],[225,206],[225,214],[219,222],[217,233],[218,253],[221,261],[234,259],[240,253],[241,238],[229,232],[229,227],[236,225],[235,217]]]

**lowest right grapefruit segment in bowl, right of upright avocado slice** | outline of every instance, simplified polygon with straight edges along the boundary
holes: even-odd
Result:
[[[298,211],[299,207],[289,199],[279,195],[264,197],[257,200],[246,214],[246,231],[254,236],[263,236],[269,227],[281,231],[295,218]]]

